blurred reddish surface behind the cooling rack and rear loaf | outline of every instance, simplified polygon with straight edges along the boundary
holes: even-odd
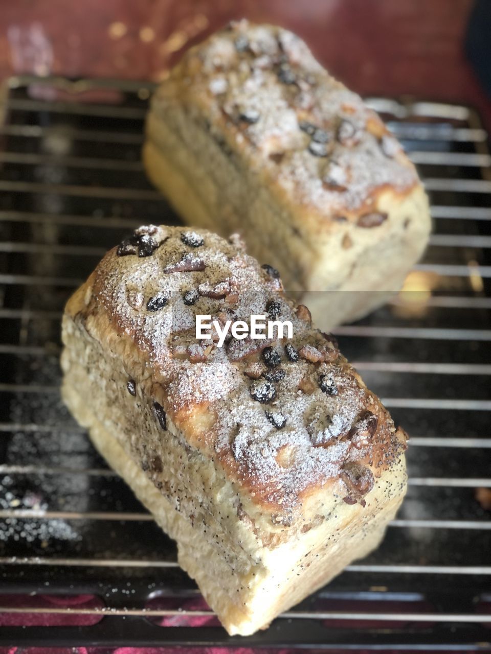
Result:
[[[465,61],[473,0],[3,0],[0,75],[159,78],[232,18],[297,31],[357,92],[491,103]]]

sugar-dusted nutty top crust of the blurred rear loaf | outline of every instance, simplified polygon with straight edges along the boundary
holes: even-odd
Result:
[[[229,145],[295,204],[321,216],[349,215],[378,190],[403,193],[418,182],[378,116],[289,31],[244,20],[232,24],[185,56],[163,88],[183,79],[187,97],[196,97],[200,107],[206,103],[211,131],[223,135],[225,116]],[[153,110],[165,113],[165,94],[156,94]],[[319,143],[300,129],[305,122],[327,139]],[[346,185],[325,182],[333,162]]]

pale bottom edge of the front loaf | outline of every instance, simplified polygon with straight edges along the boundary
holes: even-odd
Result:
[[[268,627],[278,613],[288,610],[323,587],[354,559],[365,557],[384,537],[386,525],[402,500],[402,496],[394,496],[386,506],[379,507],[378,513],[366,524],[363,538],[362,534],[357,533],[357,521],[351,520],[344,525],[346,538],[333,546],[329,544],[327,526],[325,533],[321,530],[318,536],[312,534],[314,545],[310,539],[303,537],[308,547],[302,540],[271,551],[266,567],[258,564],[248,582],[237,576],[218,576],[216,571],[223,570],[223,561],[219,560],[219,555],[209,547],[202,534],[192,528],[191,523],[156,489],[153,481],[118,443],[117,437],[110,434],[93,415],[73,385],[65,381],[62,392],[73,415],[89,428],[90,439],[96,449],[151,511],[156,523],[177,540],[179,565],[196,579],[204,598],[230,635],[246,636]],[[304,550],[308,550],[310,568],[300,564],[300,561],[306,560],[303,559]],[[294,568],[300,576],[295,574]],[[292,574],[287,577],[285,573],[290,570]],[[251,578],[254,580],[252,583]],[[238,591],[242,584],[244,589]]]

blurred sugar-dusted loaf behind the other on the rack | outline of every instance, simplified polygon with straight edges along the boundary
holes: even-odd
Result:
[[[280,27],[241,21],[189,50],[153,97],[143,155],[185,222],[240,232],[319,328],[380,305],[427,243],[397,140]]]

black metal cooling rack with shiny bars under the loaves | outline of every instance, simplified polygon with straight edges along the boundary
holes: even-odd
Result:
[[[213,619],[189,626],[209,611],[173,543],[58,393],[67,296],[134,226],[177,222],[140,163],[150,89],[10,80],[0,127],[0,644],[490,647],[491,513],[481,503],[491,490],[491,158],[476,114],[370,100],[418,165],[435,223],[405,292],[336,330],[411,436],[403,508],[367,559],[268,630],[229,638]],[[87,598],[71,608],[59,597],[77,594]],[[74,614],[77,627],[65,623]],[[38,626],[15,626],[23,621]]]

